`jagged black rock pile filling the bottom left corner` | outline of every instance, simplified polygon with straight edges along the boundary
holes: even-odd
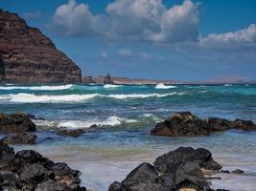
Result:
[[[81,172],[32,150],[19,151],[0,140],[0,188],[30,191],[86,191]]]

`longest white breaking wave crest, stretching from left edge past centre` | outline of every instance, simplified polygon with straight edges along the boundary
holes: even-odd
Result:
[[[149,97],[166,97],[173,95],[184,95],[185,93],[169,93],[169,94],[129,94],[129,95],[35,95],[35,94],[16,94],[16,95],[2,95],[0,100],[7,100],[16,103],[61,103],[61,102],[81,102],[95,97],[107,97],[115,99],[128,99],[128,98],[149,98]]]

